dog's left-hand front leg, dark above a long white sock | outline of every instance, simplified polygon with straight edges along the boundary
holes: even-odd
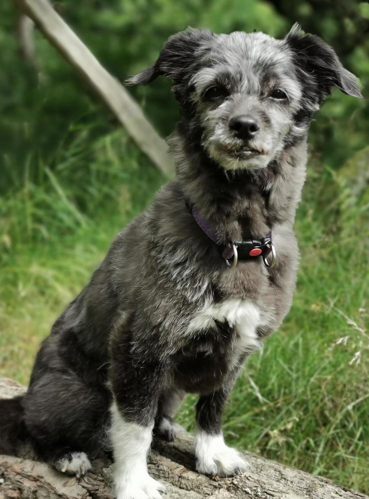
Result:
[[[147,469],[162,380],[163,369],[158,364],[127,356],[124,363],[112,363],[110,435],[117,499],[160,499],[160,492],[165,491]]]

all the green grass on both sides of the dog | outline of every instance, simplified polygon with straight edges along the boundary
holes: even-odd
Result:
[[[30,153],[26,165],[0,204],[0,372],[25,384],[52,322],[164,182],[122,132],[90,140],[83,127],[47,161]],[[8,176],[14,167],[9,159]],[[296,222],[294,304],[247,362],[224,433],[238,448],[365,492],[367,202],[342,182],[318,161],[310,169]],[[188,429],[193,405],[190,396],[178,415]]]

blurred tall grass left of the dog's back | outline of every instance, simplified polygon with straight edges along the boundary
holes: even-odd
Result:
[[[0,372],[23,383],[52,321],[164,181],[122,131],[70,133],[48,164],[28,158],[0,203]]]

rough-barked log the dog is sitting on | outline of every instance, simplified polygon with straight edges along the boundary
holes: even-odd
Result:
[[[24,388],[0,377],[0,398],[19,395]],[[0,499],[111,499],[112,463],[93,461],[93,472],[80,484],[32,459],[30,449],[18,457],[0,456]],[[229,479],[209,478],[194,469],[192,437],[176,442],[155,441],[149,471],[167,487],[166,499],[369,499],[321,477],[287,468],[253,454],[245,457],[251,471]]]

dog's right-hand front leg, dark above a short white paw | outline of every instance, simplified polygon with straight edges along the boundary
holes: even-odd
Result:
[[[221,414],[228,392],[219,389],[200,396],[196,405],[196,469],[205,475],[227,477],[244,472],[248,463],[236,450],[228,447],[221,431]]]

